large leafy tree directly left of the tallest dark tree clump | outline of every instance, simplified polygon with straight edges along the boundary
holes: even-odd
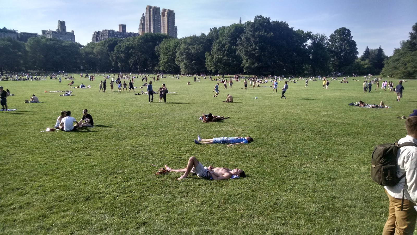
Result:
[[[206,53],[206,67],[213,73],[241,73],[242,58],[237,53],[237,41],[245,33],[244,25],[233,24],[217,30],[219,36]]]

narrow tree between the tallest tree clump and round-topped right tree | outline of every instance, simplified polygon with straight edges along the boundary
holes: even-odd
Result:
[[[315,33],[311,35],[308,46],[310,52],[310,68],[314,76],[325,74],[329,71],[329,39],[325,34]]]

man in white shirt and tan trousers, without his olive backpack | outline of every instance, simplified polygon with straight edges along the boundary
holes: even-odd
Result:
[[[405,174],[394,186],[384,186],[389,198],[389,214],[383,235],[413,234],[417,211],[417,116],[405,120],[407,136],[399,139],[398,144],[411,142],[397,150],[397,177]],[[402,199],[404,198],[404,199]]]

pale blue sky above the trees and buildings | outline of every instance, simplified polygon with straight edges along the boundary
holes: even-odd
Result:
[[[56,30],[58,20],[64,20],[83,45],[94,31],[117,31],[119,24],[137,33],[146,5],[174,10],[179,38],[208,33],[210,28],[238,23],[239,18],[253,21],[255,15],[327,36],[346,27],[359,56],[367,46],[379,45],[392,55],[417,22],[416,0],[3,0],[1,5],[0,28],[40,34]]]

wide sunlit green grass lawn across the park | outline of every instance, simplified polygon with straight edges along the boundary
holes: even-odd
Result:
[[[102,76],[75,77],[75,85],[92,88],[60,97],[44,91],[68,89],[65,79],[0,81],[15,94],[9,109],[17,109],[0,112],[1,234],[382,232],[388,199],[370,179],[371,154],[375,145],[405,136],[397,116],[417,109],[416,81],[403,83],[400,102],[381,88],[363,93],[363,78],[332,81],[329,90],[322,81],[289,83],[287,99],[280,99],[281,89],[244,90],[243,82],[234,82],[232,89],[219,86],[214,98],[216,82],[168,75],[153,88],[166,83],[176,93],[167,95],[167,104],[158,103],[158,95],[150,104],[133,91],[110,92],[109,82],[107,93],[99,92]],[[232,104],[221,102],[228,93]],[[32,94],[44,103],[24,104]],[[391,108],[348,106],[359,100]],[[55,125],[60,111],[80,120],[83,109],[94,128],[41,132]],[[203,112],[230,119],[202,123]],[[196,145],[197,134],[252,136],[255,142]],[[154,175],[163,164],[185,167],[191,156],[207,166],[241,168],[247,177],[177,181],[179,173]]]

